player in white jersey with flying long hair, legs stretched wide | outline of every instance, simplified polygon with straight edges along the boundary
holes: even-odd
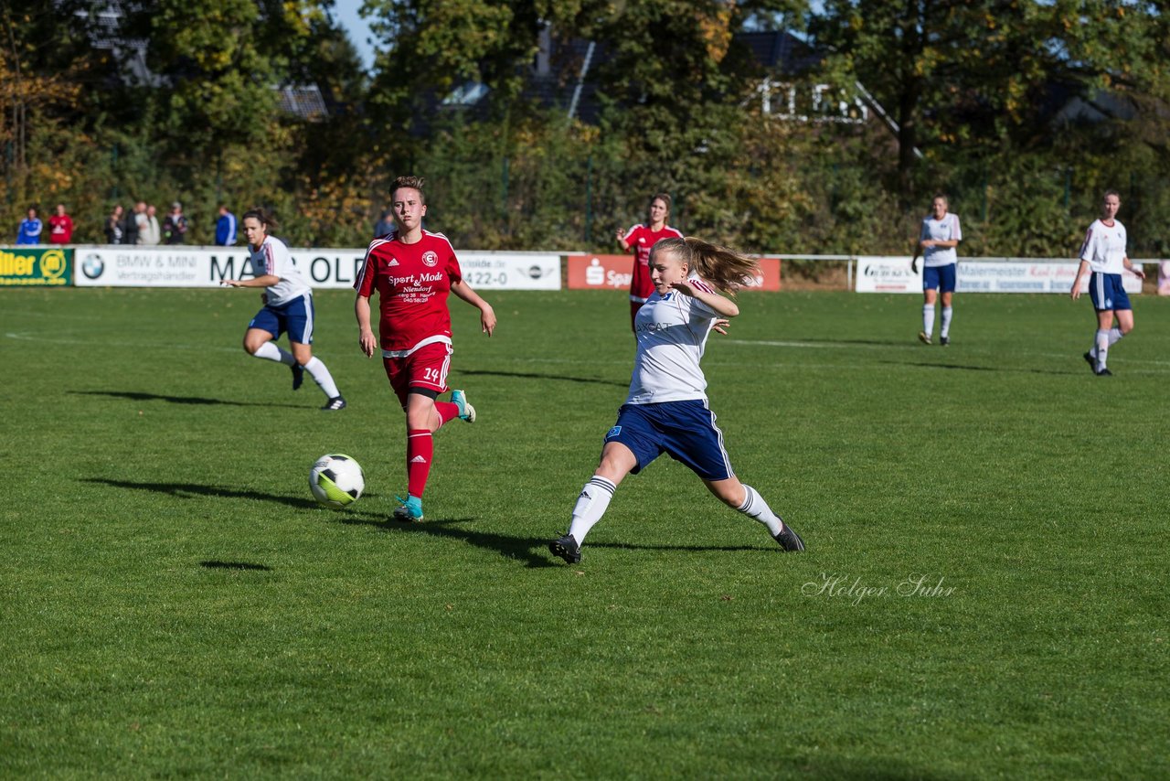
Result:
[[[649,268],[654,293],[634,320],[629,396],[605,436],[601,463],[577,499],[569,532],[549,550],[579,562],[585,535],[601,520],[618,484],[662,453],[690,467],[725,505],[766,526],[784,550],[804,550],[799,535],[732,472],[698,366],[715,322],[739,314],[720,292],[734,294],[756,261],[700,239],[662,239],[651,251]]]

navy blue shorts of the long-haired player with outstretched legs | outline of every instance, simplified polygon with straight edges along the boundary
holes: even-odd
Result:
[[[633,452],[638,459],[634,474],[666,453],[703,480],[727,480],[735,475],[723,448],[723,432],[715,425],[715,413],[701,399],[622,404],[618,423],[610,429],[605,441],[621,443]]]

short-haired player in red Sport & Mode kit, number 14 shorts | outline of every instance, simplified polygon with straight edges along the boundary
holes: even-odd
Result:
[[[432,434],[445,423],[461,418],[475,423],[475,407],[467,395],[453,390],[449,402],[436,400],[447,390],[450,369],[450,313],[447,295],[454,293],[480,310],[480,327],[491,336],[496,313],[463,281],[455,251],[441,233],[422,229],[427,213],[420,177],[399,177],[390,187],[395,229],[370,242],[353,311],[358,343],[372,358],[381,342],[381,361],[402,410],[406,412],[406,499],[394,518],[422,520],[422,492],[434,455]],[[378,292],[378,337],[370,324],[370,296]]]

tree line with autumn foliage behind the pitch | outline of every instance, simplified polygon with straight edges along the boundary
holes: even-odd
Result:
[[[0,228],[66,203],[273,210],[296,245],[364,246],[401,173],[482,249],[613,249],[672,224],[766,253],[903,253],[935,192],[964,254],[1071,256],[1101,192],[1130,254],[1170,213],[1170,19],[1138,0],[365,0],[366,73],[329,0],[26,0],[0,11]],[[812,56],[769,70],[746,30]],[[589,116],[569,96],[592,42]],[[546,76],[536,63],[546,57]],[[543,78],[543,81],[542,81]],[[765,114],[764,80],[865,122]],[[324,111],[282,109],[316,85]],[[482,100],[453,100],[474,87]],[[862,97],[863,96],[863,97]]]

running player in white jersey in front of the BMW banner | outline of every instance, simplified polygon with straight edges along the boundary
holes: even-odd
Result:
[[[243,213],[243,235],[248,240],[252,255],[250,280],[223,280],[230,287],[267,288],[260,300],[263,308],[248,323],[243,334],[243,349],[257,358],[283,363],[292,370],[292,390],[301,388],[304,372],[314,378],[325,393],[325,411],[345,409],[345,399],[337,390],[337,383],[321,358],[312,355],[312,288],[292,263],[292,255],[283,241],[268,235],[276,221],[262,208]],[[288,331],[287,352],[275,344],[281,334]]]

